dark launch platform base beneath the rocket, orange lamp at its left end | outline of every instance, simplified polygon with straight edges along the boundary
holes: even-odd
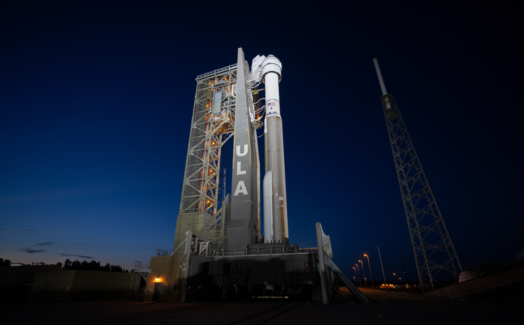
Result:
[[[144,301],[186,302],[207,300],[291,299],[322,300],[318,253],[290,246],[248,247],[235,255],[192,255],[184,280],[185,255],[152,256]],[[264,247],[266,246],[266,247]],[[257,255],[255,255],[255,252]],[[284,252],[284,253],[282,253]],[[293,253],[291,253],[293,252]],[[226,252],[227,253],[227,252]],[[247,255],[252,253],[253,255]],[[264,254],[267,253],[267,254]],[[355,301],[367,302],[351,280],[324,254],[330,301],[339,300],[335,277]],[[185,283],[184,283],[185,282]]]

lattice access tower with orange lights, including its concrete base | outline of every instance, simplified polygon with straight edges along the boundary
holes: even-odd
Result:
[[[236,81],[237,64],[196,77],[173,250],[189,230],[224,244],[225,215],[231,205],[225,195],[224,144],[234,133]]]

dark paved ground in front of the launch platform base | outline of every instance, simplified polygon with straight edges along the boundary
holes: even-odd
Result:
[[[0,306],[2,324],[497,324],[521,323],[524,305],[449,302],[362,289],[372,302],[25,302]],[[348,297],[347,297],[348,298]],[[379,317],[379,315],[385,317]],[[54,317],[53,317],[54,316]],[[51,317],[51,318],[49,318]]]

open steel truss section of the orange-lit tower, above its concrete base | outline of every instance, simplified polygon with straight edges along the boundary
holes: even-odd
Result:
[[[225,197],[222,158],[224,144],[233,136],[235,126],[236,70],[233,64],[195,79],[179,215],[204,212],[211,218]]]

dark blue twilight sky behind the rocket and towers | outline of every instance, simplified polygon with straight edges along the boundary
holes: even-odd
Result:
[[[417,280],[377,57],[462,265],[514,259],[517,8],[302,5],[268,16],[241,2],[3,1],[0,257],[130,269],[172,249],[194,78],[242,47],[249,62],[282,62],[292,243],[315,247],[320,221],[348,275],[369,254],[382,279],[379,245],[387,278],[403,259]]]

